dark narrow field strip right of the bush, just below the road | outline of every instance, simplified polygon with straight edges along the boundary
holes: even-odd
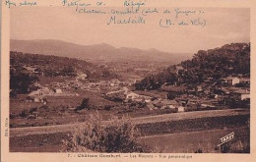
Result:
[[[138,125],[142,135],[162,135],[182,132],[207,131],[214,129],[239,128],[247,126],[249,115],[180,119]]]

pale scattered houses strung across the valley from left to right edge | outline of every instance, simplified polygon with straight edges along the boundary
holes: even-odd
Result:
[[[86,78],[85,75],[82,75],[82,77]],[[211,79],[207,81],[211,81]],[[74,92],[69,92],[69,89],[73,88],[90,91],[105,91],[103,97],[109,100],[118,100],[124,103],[143,102],[147,104],[150,110],[172,109],[176,112],[184,112],[196,108],[215,109],[220,106],[219,101],[226,96],[235,97],[241,101],[250,98],[250,80],[248,78],[227,77],[221,80],[221,85],[211,84],[207,81],[193,88],[188,88],[187,85],[162,85],[162,91],[166,93],[178,93],[172,99],[168,98],[167,95],[165,97],[155,97],[138,94],[129,89],[129,86],[135,83],[133,80],[89,82],[76,79],[52,82],[49,87],[41,86],[39,83],[35,82],[38,89],[28,95],[28,100],[46,103],[45,98],[50,96],[79,95]],[[236,86],[238,83],[242,83],[245,86]]]

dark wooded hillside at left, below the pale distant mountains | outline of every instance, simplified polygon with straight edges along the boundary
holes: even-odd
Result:
[[[76,77],[78,73],[87,74],[88,79],[112,79],[116,76],[108,70],[98,67],[92,63],[58,56],[46,56],[39,54],[24,54],[22,52],[10,52],[11,70],[29,67],[36,74],[43,74],[46,77]]]

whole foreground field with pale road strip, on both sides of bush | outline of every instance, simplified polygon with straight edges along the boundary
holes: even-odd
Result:
[[[203,152],[220,152],[215,150],[219,138],[231,132],[235,133],[236,147],[249,147],[249,111],[164,114],[137,117],[132,121],[141,131],[140,142],[152,147],[154,152],[195,152],[198,149]],[[62,140],[79,125],[11,129],[10,151],[59,152],[64,148]],[[239,152],[238,148],[234,151]]]

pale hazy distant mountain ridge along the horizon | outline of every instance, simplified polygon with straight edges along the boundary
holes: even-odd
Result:
[[[115,48],[108,44],[78,45],[60,40],[11,40],[11,51],[77,58],[86,61],[151,61],[177,64],[187,54],[172,54],[156,49]]]

